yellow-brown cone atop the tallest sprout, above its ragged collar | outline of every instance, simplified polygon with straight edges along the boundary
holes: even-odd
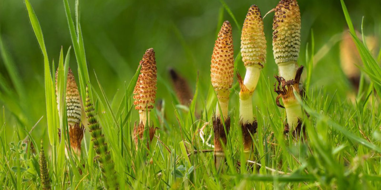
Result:
[[[294,79],[300,49],[300,11],[296,0],[281,0],[275,8],[272,46],[279,75]]]

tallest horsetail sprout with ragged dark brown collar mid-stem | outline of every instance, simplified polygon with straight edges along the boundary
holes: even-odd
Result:
[[[275,76],[278,81],[278,87],[274,89],[278,93],[276,102],[279,107],[286,109],[285,132],[291,131],[295,134],[298,132],[296,129],[301,130],[301,118],[303,117],[301,105],[293,92],[299,93],[299,80],[303,71],[303,66],[296,71],[301,25],[298,2],[281,0],[275,8],[273,21],[272,45],[275,63],[278,65],[280,74],[280,76]],[[280,105],[279,98],[282,98],[284,107]]]

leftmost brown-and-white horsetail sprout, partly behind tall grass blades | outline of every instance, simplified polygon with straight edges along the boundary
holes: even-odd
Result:
[[[56,96],[59,110],[58,100],[58,69],[56,71]],[[81,143],[85,128],[81,124],[81,99],[78,92],[77,83],[75,82],[74,74],[69,68],[66,82],[66,115],[69,127],[70,147],[78,156],[81,154]],[[60,131],[59,131],[60,134]]]

